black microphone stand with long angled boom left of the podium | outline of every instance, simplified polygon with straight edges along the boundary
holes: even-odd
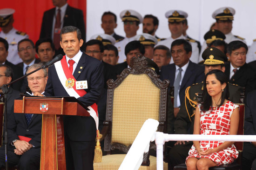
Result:
[[[51,62],[51,61],[50,61]],[[49,64],[50,62],[46,63],[45,65],[41,66],[38,69],[35,69],[34,71],[31,71],[30,73],[27,73],[24,76],[21,76],[20,78],[14,80],[13,82],[9,82],[8,84],[4,84],[0,89],[2,89],[3,94],[4,94],[4,118],[5,118],[5,132],[4,132],[4,145],[5,145],[5,167],[6,170],[8,170],[8,141],[7,141],[7,94],[8,94],[8,86],[13,84],[14,82],[18,82],[19,80],[23,79],[24,77],[27,77],[31,74],[33,74],[34,72],[40,70],[40,69],[45,69],[47,67],[50,67],[53,63]]]

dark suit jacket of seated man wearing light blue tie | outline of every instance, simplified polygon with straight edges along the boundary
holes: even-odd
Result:
[[[170,81],[170,87],[174,85],[175,81],[175,72],[176,67],[175,64],[168,64],[166,66],[162,66],[160,79],[168,79]],[[188,68],[182,79],[182,84],[180,87],[179,95],[180,95],[180,103],[184,101],[185,98],[185,90],[187,87],[191,86],[194,83],[202,82],[204,80],[204,67],[202,65],[198,65],[189,61]]]

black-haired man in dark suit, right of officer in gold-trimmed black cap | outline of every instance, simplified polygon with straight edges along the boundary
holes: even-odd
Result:
[[[229,63],[225,64],[225,74],[229,82],[245,88],[245,94],[256,89],[256,72],[246,63],[248,47],[242,41],[232,41],[227,47]]]

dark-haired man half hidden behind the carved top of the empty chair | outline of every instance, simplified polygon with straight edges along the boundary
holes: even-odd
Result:
[[[145,47],[143,44],[141,44],[139,41],[131,41],[125,46],[124,53],[126,55],[126,61],[120,64],[115,65],[115,76],[120,75],[121,72],[130,67],[130,62],[132,57],[136,57],[137,55],[144,55],[145,54]],[[156,74],[159,74],[159,68],[155,62],[150,60],[148,57],[148,68],[154,69]],[[115,77],[116,79],[116,77]]]

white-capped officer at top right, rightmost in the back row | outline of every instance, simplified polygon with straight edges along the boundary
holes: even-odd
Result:
[[[231,41],[240,40],[246,44],[244,38],[233,35],[231,32],[235,13],[236,11],[234,8],[221,7],[213,12],[212,18],[216,19],[216,29],[222,31],[223,34],[225,34],[226,43],[229,44]]]

